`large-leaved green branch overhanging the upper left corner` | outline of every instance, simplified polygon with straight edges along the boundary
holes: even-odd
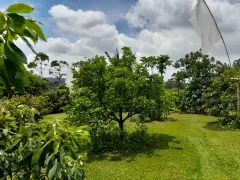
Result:
[[[38,38],[46,40],[37,21],[18,14],[32,11],[30,6],[18,3],[9,6],[6,12],[0,12],[0,89],[7,93],[12,91],[12,87],[23,92],[24,86],[29,83],[24,67],[27,58],[14,41],[22,38],[33,50],[26,38],[34,43]]]

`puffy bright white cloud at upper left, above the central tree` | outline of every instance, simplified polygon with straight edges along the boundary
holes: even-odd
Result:
[[[53,6],[49,10],[57,26],[65,33],[103,38],[115,36],[116,27],[106,23],[106,16],[101,11],[74,11],[64,5]]]

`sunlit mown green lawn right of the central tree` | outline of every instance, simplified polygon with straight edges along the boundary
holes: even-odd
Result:
[[[158,134],[159,147],[88,162],[86,179],[240,179],[240,132],[218,128],[215,117],[174,114],[171,118],[147,124],[150,133]]]

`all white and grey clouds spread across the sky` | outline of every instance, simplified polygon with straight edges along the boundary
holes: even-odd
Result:
[[[228,0],[207,2],[223,30],[232,60],[239,58],[240,3],[233,4]],[[111,53],[122,46],[131,47],[137,56],[168,54],[175,61],[200,48],[200,40],[188,22],[195,4],[193,0],[139,0],[125,16],[130,25],[141,29],[133,37],[119,33],[115,25],[108,24],[104,12],[75,11],[56,5],[49,13],[63,36],[48,38],[47,43],[39,42],[36,49],[48,54],[52,60],[66,60],[70,64],[84,56],[104,55],[105,51]],[[69,36],[74,36],[74,41],[68,39]],[[31,54],[29,50],[25,52]],[[228,62],[221,42],[211,54]],[[173,72],[173,68],[168,69],[167,78]]]

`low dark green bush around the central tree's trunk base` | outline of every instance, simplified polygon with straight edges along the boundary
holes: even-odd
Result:
[[[132,133],[124,132],[121,139],[121,131],[116,123],[99,123],[90,128],[90,138],[88,150],[93,154],[105,152],[131,152],[149,147],[151,140],[147,133],[146,126],[137,124]]]

